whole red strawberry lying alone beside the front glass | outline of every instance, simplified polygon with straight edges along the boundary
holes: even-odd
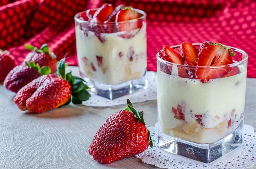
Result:
[[[111,115],[93,137],[89,154],[100,163],[113,163],[153,146],[145,126],[143,111],[136,112],[130,100],[128,108]]]

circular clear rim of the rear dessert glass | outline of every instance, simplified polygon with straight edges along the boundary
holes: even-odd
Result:
[[[93,9],[91,9],[91,10],[97,10],[97,9],[99,9],[99,8],[93,8]],[[88,9],[87,9],[88,10]],[[87,10],[85,10],[85,11],[87,11]],[[142,11],[142,10],[140,10],[140,9],[134,9],[134,11],[137,11],[137,12],[139,12],[140,14],[143,14],[143,16],[141,16],[141,17],[139,17],[139,18],[137,18],[137,19],[133,19],[133,20],[126,20],[126,21],[120,21],[120,22],[108,22],[108,23],[98,23],[98,22],[90,22],[90,21],[87,21],[87,20],[81,20],[81,19],[79,19],[79,15],[81,14],[81,13],[83,13],[83,12],[85,12],[85,11],[81,11],[81,12],[79,12],[79,13],[77,13],[76,15],[75,15],[75,21],[76,22],[78,22],[78,23],[96,23],[96,24],[101,24],[101,25],[112,25],[112,24],[116,24],[116,23],[118,23],[118,24],[122,24],[122,23],[131,23],[131,22],[135,22],[135,21],[137,21],[137,20],[143,20],[146,16],[147,16],[147,14],[144,12],[144,11]]]

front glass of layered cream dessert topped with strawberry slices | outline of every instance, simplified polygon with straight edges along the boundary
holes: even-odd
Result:
[[[160,149],[210,163],[242,144],[247,59],[209,41],[158,50]]]

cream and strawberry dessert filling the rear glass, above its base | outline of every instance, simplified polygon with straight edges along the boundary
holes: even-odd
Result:
[[[143,11],[103,4],[76,19],[76,48],[82,74],[116,85],[145,74],[146,21]]]

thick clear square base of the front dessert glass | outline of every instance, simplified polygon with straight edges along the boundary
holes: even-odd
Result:
[[[171,137],[165,135],[159,129],[158,147],[175,155],[181,155],[203,163],[211,163],[242,145],[243,122],[244,120],[241,120],[239,126],[230,135],[211,144],[197,144]]]

